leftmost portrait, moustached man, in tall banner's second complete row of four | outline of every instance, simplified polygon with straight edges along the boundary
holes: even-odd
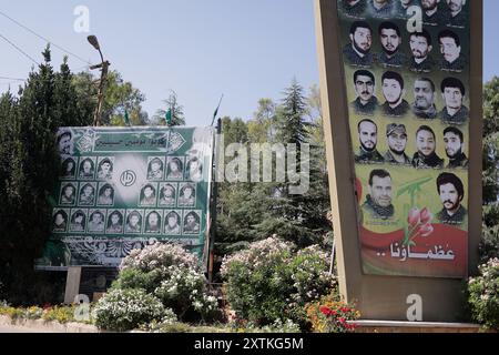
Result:
[[[350,103],[352,109],[358,114],[375,114],[379,102],[374,95],[376,88],[374,74],[368,70],[357,70],[354,73],[354,85],[357,99]]]

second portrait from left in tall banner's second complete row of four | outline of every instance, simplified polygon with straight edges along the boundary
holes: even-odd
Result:
[[[395,71],[387,71],[381,77],[381,91],[385,103],[381,111],[385,115],[403,116],[410,111],[409,103],[404,99],[404,79]]]

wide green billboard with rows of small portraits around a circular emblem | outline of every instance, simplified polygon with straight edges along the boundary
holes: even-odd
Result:
[[[206,257],[213,128],[62,128],[52,235],[39,266],[118,266],[134,248]]]

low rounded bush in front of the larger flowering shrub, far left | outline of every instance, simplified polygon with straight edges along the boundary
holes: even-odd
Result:
[[[143,290],[112,290],[93,310],[99,328],[126,332],[171,315],[160,300]]]

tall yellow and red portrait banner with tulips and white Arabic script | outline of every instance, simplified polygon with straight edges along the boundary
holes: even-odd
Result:
[[[365,274],[468,274],[469,2],[337,0]]]

